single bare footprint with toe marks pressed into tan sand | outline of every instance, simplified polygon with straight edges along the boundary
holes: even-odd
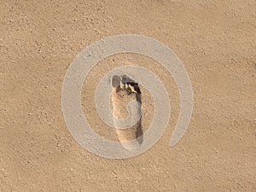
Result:
[[[141,90],[138,84],[126,75],[114,75],[112,79],[112,86],[113,91],[111,102],[113,116],[117,119],[113,118],[113,125],[116,128],[117,138],[123,148],[134,151],[140,147],[141,143],[143,143],[143,129],[141,125]],[[131,101],[135,104],[129,106],[128,103]],[[130,111],[129,107],[132,107],[132,110],[133,112],[135,111],[135,113],[130,113],[132,110]],[[136,123],[129,128],[119,129],[122,125],[118,123],[118,120],[127,119],[129,115],[133,115],[133,117],[131,116],[130,118],[136,119]]]

